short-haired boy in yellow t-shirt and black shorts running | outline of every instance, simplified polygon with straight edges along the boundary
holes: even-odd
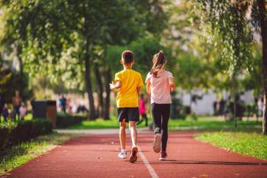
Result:
[[[126,50],[122,52],[120,63],[123,70],[115,74],[115,80],[111,83],[111,90],[119,88],[117,95],[118,121],[120,122],[120,146],[121,150],[118,156],[126,159],[125,149],[126,141],[126,122],[129,122],[131,131],[131,156],[129,161],[136,162],[137,159],[137,130],[136,122],[139,122],[138,94],[143,86],[143,79],[139,72],[131,69],[133,66],[133,52]]]

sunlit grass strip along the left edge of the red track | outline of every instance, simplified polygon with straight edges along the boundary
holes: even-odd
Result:
[[[60,145],[66,140],[76,136],[79,135],[51,133],[46,136],[39,136],[27,143],[22,143],[10,149],[6,149],[4,152],[0,152],[0,175],[13,170],[13,168],[34,159],[36,156],[40,156],[54,146]]]

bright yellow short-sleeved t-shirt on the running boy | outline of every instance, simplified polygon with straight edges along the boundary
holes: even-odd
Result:
[[[122,82],[122,87],[117,95],[117,107],[137,108],[137,88],[144,85],[141,74],[134,70],[122,70],[115,74],[116,81]]]

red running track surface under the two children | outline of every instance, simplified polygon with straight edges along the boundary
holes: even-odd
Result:
[[[193,133],[169,134],[168,161],[159,161],[152,140],[152,133],[138,135],[138,145],[159,177],[267,177],[267,161],[201,143]],[[130,138],[127,142],[130,149]],[[118,135],[74,138],[3,177],[151,177],[140,156],[136,163],[119,159],[118,147]]]

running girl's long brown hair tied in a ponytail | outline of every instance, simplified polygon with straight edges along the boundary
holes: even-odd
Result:
[[[159,72],[165,70],[165,65],[167,60],[163,51],[159,51],[159,53],[155,54],[153,57],[153,67],[150,70],[150,74],[154,77],[158,77]]]

